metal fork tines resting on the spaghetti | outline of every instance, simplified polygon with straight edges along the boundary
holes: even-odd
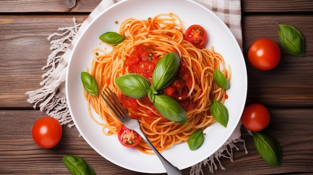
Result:
[[[117,117],[121,118],[123,115],[127,114],[127,110],[118,102],[117,97],[109,88],[104,89],[100,95]]]

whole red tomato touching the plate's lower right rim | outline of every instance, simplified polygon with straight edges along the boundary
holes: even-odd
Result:
[[[241,115],[242,125],[250,131],[261,131],[268,125],[270,115],[265,106],[250,104],[246,106]]]

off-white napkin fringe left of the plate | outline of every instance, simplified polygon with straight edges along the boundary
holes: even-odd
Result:
[[[61,125],[72,122],[66,104],[65,76],[68,60],[64,56],[64,53],[81,25],[76,24],[75,18],[73,18],[73,22],[74,26],[58,28],[57,30],[61,31],[60,33],[55,32],[48,36],[48,40],[57,36],[59,37],[50,41],[50,50],[52,52],[48,56],[46,65],[42,67],[42,70],[49,68],[41,76],[41,78],[44,78],[40,82],[42,87],[25,93],[29,96],[27,102],[34,103],[34,109],[41,102],[39,104],[40,111],[46,111],[48,116],[56,118],[60,121]],[[71,128],[73,125],[73,123],[68,124],[68,127]]]

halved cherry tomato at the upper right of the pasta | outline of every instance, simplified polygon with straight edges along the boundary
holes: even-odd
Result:
[[[201,47],[206,41],[206,31],[200,25],[191,25],[185,33],[185,40],[195,47]]]

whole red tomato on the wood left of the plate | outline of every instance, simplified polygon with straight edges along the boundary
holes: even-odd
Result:
[[[31,135],[38,146],[52,148],[62,137],[62,126],[53,117],[42,117],[33,124]]]

